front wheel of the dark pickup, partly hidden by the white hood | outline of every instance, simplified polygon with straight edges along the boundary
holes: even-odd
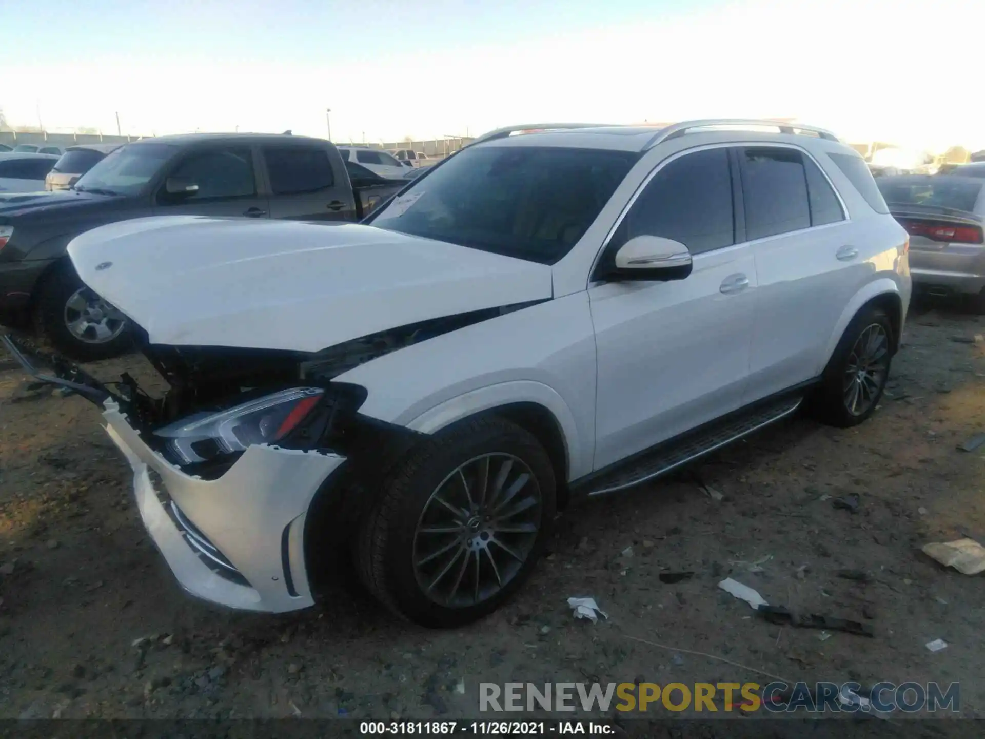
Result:
[[[99,298],[69,264],[58,265],[41,284],[35,320],[55,349],[80,362],[117,357],[131,344],[126,316]]]

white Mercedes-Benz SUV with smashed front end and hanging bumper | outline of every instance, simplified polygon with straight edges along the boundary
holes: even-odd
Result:
[[[352,558],[428,627],[492,611],[559,509],[802,405],[875,410],[906,232],[835,136],[768,121],[494,131],[360,225],[165,217],[69,246],[167,380],[5,341],[92,399],[181,585],[284,612]]]

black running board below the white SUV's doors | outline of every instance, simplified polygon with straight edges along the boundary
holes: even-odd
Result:
[[[628,467],[614,471],[593,482],[589,496],[601,496],[632,488],[664,475],[693,459],[708,454],[742,437],[779,421],[796,411],[803,397],[786,397],[761,406],[749,414],[714,425],[706,431],[698,431],[681,441],[661,444],[652,452],[640,457]]]

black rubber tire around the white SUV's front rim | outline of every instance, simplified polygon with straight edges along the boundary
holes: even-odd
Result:
[[[415,566],[418,551],[416,542],[420,535],[419,522],[424,523],[427,505],[432,504],[434,500],[432,494],[436,495],[438,490],[443,491],[442,485],[452,479],[453,473],[461,465],[474,463],[470,460],[491,458],[493,461],[489,462],[487,469],[492,469],[497,457],[490,455],[502,457],[509,455],[520,460],[530,472],[528,485],[536,483],[540,505],[538,528],[533,544],[529,547],[525,560],[519,564],[518,570],[514,571],[493,594],[471,604],[450,605],[450,599],[446,602],[437,602],[436,597],[428,595],[427,588],[419,580],[420,569]],[[464,482],[464,474],[462,479]],[[501,487],[512,487],[512,485],[507,486],[504,482]],[[526,487],[524,489],[526,490]],[[485,497],[485,492],[483,495]],[[355,542],[356,564],[361,580],[390,610],[421,626],[448,628],[473,622],[492,613],[512,596],[533,570],[550,533],[556,511],[556,500],[554,468],[550,457],[536,437],[508,421],[492,416],[456,424],[414,449],[394,468],[389,479],[384,483],[379,500],[361,521]],[[459,537],[458,534],[447,534],[447,536]],[[496,534],[493,534],[493,538],[495,536]],[[458,546],[455,545],[452,552],[456,552]],[[490,547],[487,546],[487,549]],[[474,578],[471,572],[473,560],[468,558],[472,554],[466,551],[464,560],[453,561],[456,563],[454,571],[458,570],[457,562],[468,563],[462,566],[463,572],[466,567],[470,571],[470,579],[465,580],[466,590],[470,587],[468,583],[480,580],[480,571],[475,571]],[[495,578],[500,578],[500,570],[494,564],[491,568],[487,559],[483,557],[483,555],[487,557],[491,555],[479,551],[475,551],[474,554],[475,562],[487,562],[485,566],[487,576],[494,571]],[[421,559],[417,558],[419,564]],[[440,559],[437,561],[435,569],[440,567],[441,562]],[[447,567],[452,565],[449,564]],[[454,576],[453,571],[449,574]],[[461,577],[462,575],[459,575],[460,579]],[[455,597],[457,592],[456,582],[449,598]],[[475,592],[479,592],[478,585],[475,587]]]

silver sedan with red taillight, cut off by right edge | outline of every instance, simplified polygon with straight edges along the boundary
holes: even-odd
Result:
[[[985,177],[948,174],[880,177],[889,212],[910,235],[915,294],[970,298],[985,313]],[[969,171],[970,173],[970,171]]]

